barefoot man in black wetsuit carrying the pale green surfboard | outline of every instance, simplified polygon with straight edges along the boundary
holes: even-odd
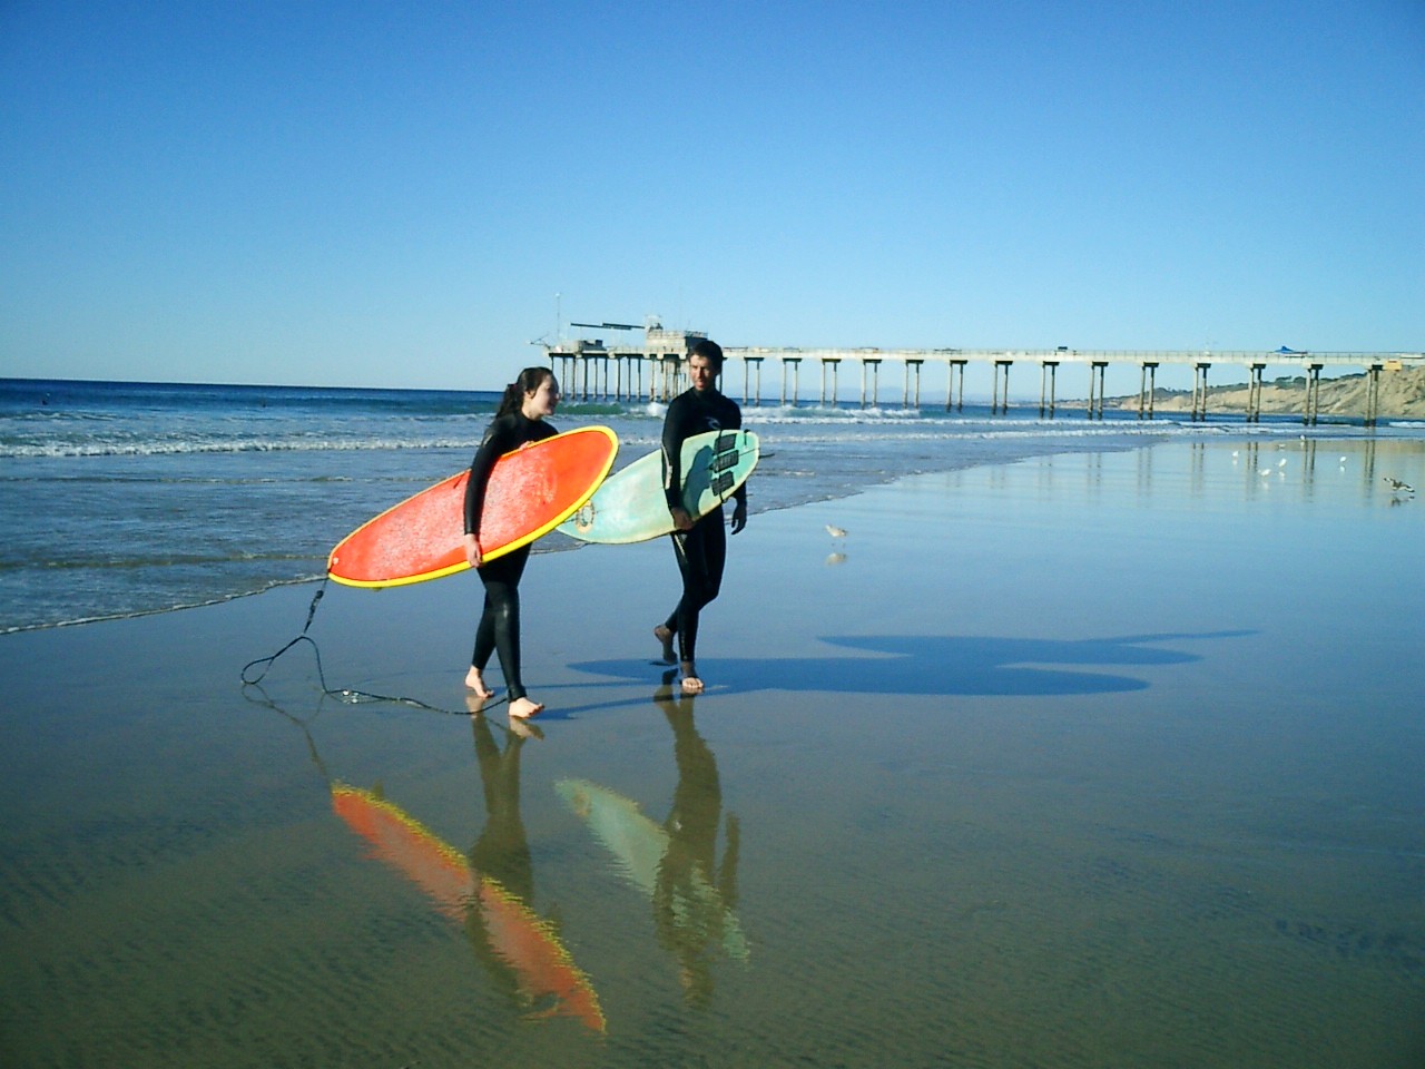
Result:
[[[694,522],[683,507],[683,442],[693,435],[708,430],[737,430],[742,426],[742,410],[737,402],[717,389],[717,376],[722,371],[722,348],[707,338],[697,342],[688,352],[688,378],[693,388],[680,393],[668,405],[663,420],[663,472],[664,495],[668,512],[677,530],[670,536],[683,573],[683,597],[673,614],[653,629],[663,643],[664,660],[674,657],[673,640],[677,637],[677,659],[683,671],[683,693],[701,694],[703,680],[697,670],[698,614],[717,597],[722,586],[722,566],[727,563],[727,530],[724,530],[722,507]],[[732,507],[732,533],[747,526],[747,483],[732,492],[737,502]]]

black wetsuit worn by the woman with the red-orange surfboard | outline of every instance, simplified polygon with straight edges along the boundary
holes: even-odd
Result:
[[[520,412],[499,416],[490,423],[484,432],[484,440],[480,442],[480,448],[475,453],[475,460],[470,462],[470,480],[465,485],[466,534],[480,530],[484,485],[490,480],[490,469],[494,468],[494,462],[512,449],[519,449],[527,442],[553,438],[556,433],[559,432],[544,420],[526,419]],[[484,609],[480,613],[480,626],[475,631],[475,653],[470,654],[470,664],[483,673],[484,666],[490,663],[490,654],[497,651],[510,701],[519,701],[526,694],[524,681],[520,678],[519,586],[520,576],[524,574],[524,562],[529,557],[530,547],[522,546],[479,569],[480,582],[484,583]]]

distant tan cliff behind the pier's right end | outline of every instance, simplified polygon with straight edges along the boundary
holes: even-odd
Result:
[[[1321,415],[1365,416],[1367,376],[1345,375],[1338,379],[1321,379]],[[1247,383],[1207,388],[1207,410],[1247,412]],[[1137,409],[1139,395],[1109,398],[1106,408]],[[1264,382],[1261,386],[1261,410],[1264,413],[1297,413],[1307,406],[1307,379],[1295,378]],[[1159,389],[1153,392],[1153,408],[1157,412],[1190,412],[1193,392],[1186,389]],[[1382,419],[1425,419],[1425,368],[1381,372],[1379,408]]]

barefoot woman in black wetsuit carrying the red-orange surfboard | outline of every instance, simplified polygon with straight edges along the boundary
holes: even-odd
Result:
[[[489,564],[480,550],[480,515],[484,509],[484,487],[494,462],[512,449],[553,438],[557,430],[546,416],[559,406],[559,382],[549,368],[526,368],[504,388],[504,398],[494,413],[484,440],[470,463],[470,479],[465,485],[465,559],[477,570],[484,584],[484,609],[475,633],[475,653],[465,686],[479,698],[494,694],[484,681],[484,666],[490,654],[500,657],[500,671],[509,688],[510,716],[533,717],[544,706],[532,701],[520,678],[520,576],[530,557],[530,546],[496,557]]]

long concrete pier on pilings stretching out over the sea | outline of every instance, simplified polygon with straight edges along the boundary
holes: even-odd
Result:
[[[606,324],[613,329],[634,328]],[[606,345],[603,339],[577,339],[546,344],[550,366],[564,383],[564,391],[579,401],[667,401],[687,388],[683,358],[688,348],[705,335],[688,331],[664,331],[657,325],[644,329],[641,345]],[[728,366],[724,366],[722,391],[734,393],[727,381],[731,365],[742,365],[742,403],[761,405],[764,363],[775,362],[781,372],[778,403],[797,406],[801,395],[802,365],[819,373],[817,402],[836,402],[838,376],[842,365],[861,372],[861,406],[881,403],[881,371],[889,363],[902,371],[901,403],[908,409],[921,408],[921,383],[925,365],[945,365],[948,388],[945,409],[965,406],[965,368],[985,363],[993,371],[995,386],[990,412],[1009,412],[1009,376],[1015,365],[1030,365],[1039,371],[1039,415],[1053,419],[1057,408],[1057,376],[1060,368],[1077,365],[1087,371],[1089,392],[1086,415],[1103,419],[1104,376],[1110,365],[1139,368],[1139,419],[1153,419],[1153,398],[1157,369],[1163,365],[1186,365],[1193,369],[1191,419],[1207,419],[1208,371],[1214,365],[1240,366],[1248,375],[1247,422],[1261,419],[1261,389],[1270,366],[1300,368],[1304,372],[1302,422],[1314,425],[1321,409],[1321,372],[1327,368],[1351,368],[1367,375],[1365,425],[1374,426],[1379,415],[1379,383],[1384,372],[1406,366],[1425,366],[1425,352],[1298,352],[1294,349],[1258,351],[1113,351],[1113,349],[795,349],[724,346]],[[809,399],[807,399],[809,401]]]

